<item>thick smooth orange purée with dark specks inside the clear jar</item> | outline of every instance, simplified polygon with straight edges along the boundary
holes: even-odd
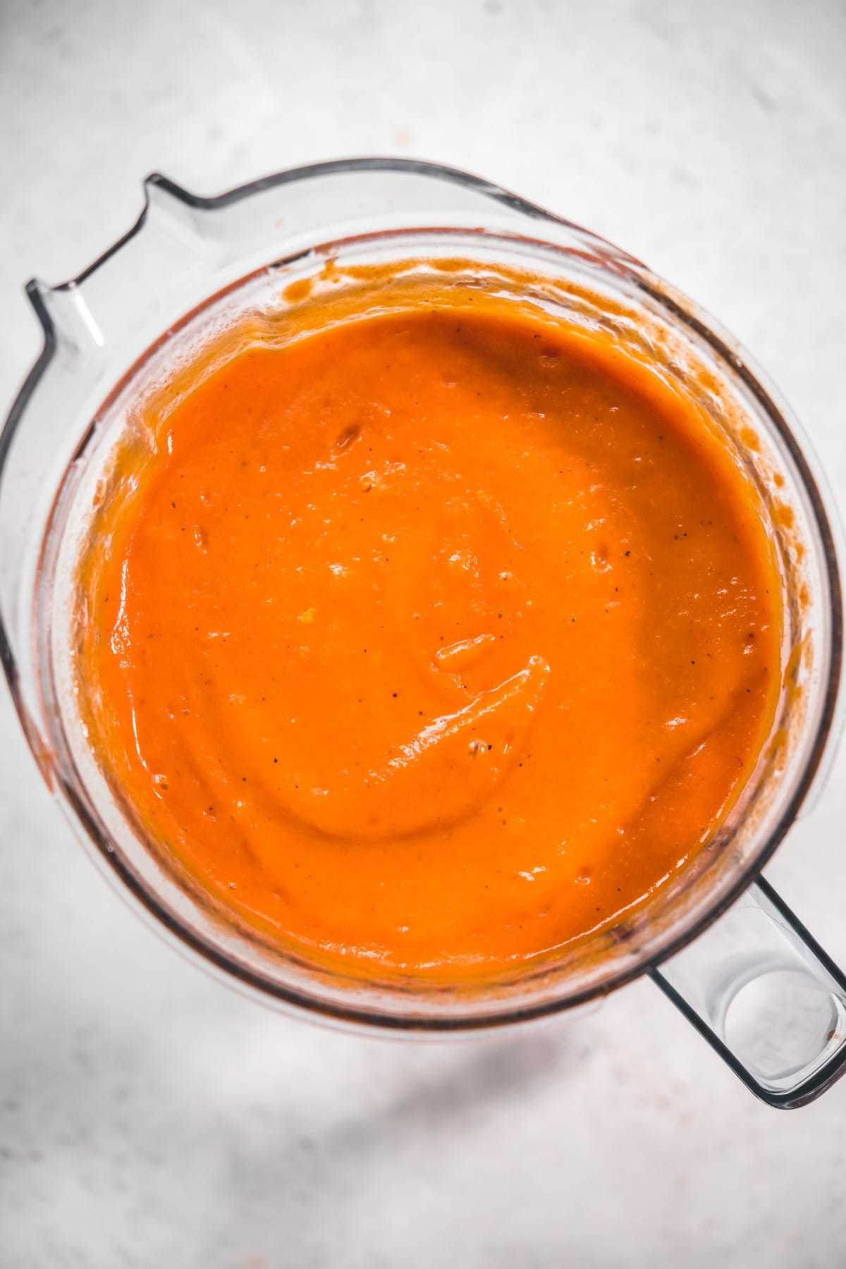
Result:
[[[402,312],[242,352],[167,433],[80,678],[123,794],[227,904],[490,968],[714,831],[770,726],[779,586],[656,376],[528,316]]]

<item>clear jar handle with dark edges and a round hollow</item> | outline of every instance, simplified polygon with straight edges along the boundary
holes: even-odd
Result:
[[[649,972],[767,1105],[805,1105],[846,1071],[846,977],[764,878]]]

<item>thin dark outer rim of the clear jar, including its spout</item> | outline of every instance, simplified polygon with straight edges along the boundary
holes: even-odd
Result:
[[[667,286],[653,275],[641,261],[601,239],[599,235],[595,235],[592,231],[585,230],[573,221],[548,212],[544,208],[538,207],[537,204],[530,203],[526,199],[469,173],[440,164],[421,162],[411,159],[365,157],[312,164],[274,173],[212,197],[192,194],[176,185],[174,181],[169,180],[169,178],[160,174],[152,174],[148,176],[145,181],[145,187],[147,192],[151,187],[164,189],[169,195],[188,207],[214,212],[254,194],[261,193],[263,190],[292,184],[297,180],[308,180],[309,178],[342,173],[367,171],[410,173],[464,187],[502,204],[511,211],[523,213],[533,220],[564,226],[576,233],[590,239],[592,242],[599,242],[608,247],[608,250],[613,254],[616,266],[624,268],[630,280],[633,280],[638,288],[646,292],[656,303],[660,305],[661,308],[667,311],[682,329],[687,329],[699,336],[699,339],[701,339],[722,362],[726,362],[732,367],[745,388],[756,400],[762,412],[772,424],[779,439],[785,445],[790,459],[795,466],[799,482],[808,497],[813,516],[813,527],[818,534],[819,549],[824,567],[824,603],[831,621],[828,664],[826,665],[823,681],[819,687],[822,704],[816,723],[816,731],[813,733],[813,741],[802,765],[795,788],[783,808],[775,827],[770,830],[762,840],[760,849],[756,850],[745,864],[738,867],[737,874],[724,887],[723,892],[715,897],[713,904],[709,904],[704,911],[696,914],[684,929],[668,938],[661,948],[652,950],[643,957],[638,957],[638,959],[630,966],[619,967],[619,970],[614,972],[608,981],[587,986],[568,996],[559,996],[535,1004],[525,1004],[521,1006],[519,1003],[512,1005],[504,1003],[504,1008],[500,1011],[490,1014],[473,1015],[464,1013],[457,1014],[455,1016],[402,1015],[400,1013],[379,1013],[369,1009],[367,1005],[351,1005],[348,1008],[339,1001],[327,1001],[317,995],[311,995],[306,990],[298,990],[274,982],[214,947],[203,935],[192,930],[166,906],[160,904],[157,896],[152,893],[138,877],[136,877],[128,863],[126,863],[112,846],[108,834],[103,831],[101,826],[89,813],[85,801],[79,797],[72,784],[65,779],[61,766],[53,764],[52,756],[41,755],[39,758],[37,754],[36,758],[37,761],[39,761],[39,766],[42,766],[43,763],[49,766],[52,779],[61,789],[66,806],[72,810],[76,821],[82,826],[88,839],[96,848],[96,854],[100,862],[109,865],[113,874],[119,878],[120,884],[124,886],[138,901],[140,906],[145,910],[145,915],[153,919],[155,928],[160,930],[162,928],[166,929],[178,944],[190,949],[190,952],[198,956],[208,967],[225,975],[230,982],[235,978],[244,987],[260,994],[260,996],[265,1000],[266,997],[273,997],[273,1000],[283,1008],[289,1006],[297,1013],[306,1010],[311,1014],[322,1016],[326,1022],[335,1022],[345,1025],[378,1027],[383,1030],[417,1033],[469,1032],[512,1027],[530,1019],[549,1016],[563,1011],[564,1009],[582,1006],[594,999],[601,997],[608,992],[624,986],[642,975],[654,971],[657,966],[680,952],[709,925],[717,921],[723,912],[726,912],[726,910],[755,879],[784,839],[785,834],[797,819],[797,815],[819,772],[824,754],[828,749],[828,742],[832,739],[835,730],[841,688],[843,650],[842,586],[837,562],[838,552],[836,547],[836,528],[832,516],[830,516],[827,510],[826,497],[821,490],[819,480],[812,471],[805,449],[797,439],[793,428],[785,418],[783,407],[778,404],[776,393],[769,387],[766,376],[760,372],[757,367],[752,369],[753,363],[748,354],[743,349],[739,349],[739,346],[736,345],[736,341],[731,340],[731,336],[720,330],[719,324],[713,321],[708,315],[703,313],[703,311],[693,301],[676,292],[671,293],[671,288],[667,288]],[[84,283],[86,278],[95,273],[115,253],[118,253],[126,244],[141,232],[148,212],[150,197],[147,193],[147,201],[134,225],[127,231],[127,233],[119,237],[75,278],[49,288],[42,287],[36,280],[30,280],[27,284],[25,289],[41,322],[44,343],[39,357],[24,379],[24,383],[10,409],[3,431],[0,433],[0,482],[3,481],[9,448],[16,429],[27,411],[32,395],[38,387],[38,383],[48,369],[57,350],[56,329],[48,307],[44,303],[43,294],[46,292],[55,293],[72,291],[75,287]],[[244,280],[244,278],[238,280]],[[237,283],[235,283],[235,286],[237,286]],[[212,298],[213,296],[207,297],[204,303],[209,302]],[[736,346],[732,346],[732,344]],[[18,664],[13,651],[11,640],[9,637],[9,631],[6,628],[5,617],[1,610],[0,660],[3,661],[4,673],[9,683],[13,702],[20,718],[24,735],[30,745],[30,749],[33,749],[34,746],[32,744],[29,716],[18,688]]]

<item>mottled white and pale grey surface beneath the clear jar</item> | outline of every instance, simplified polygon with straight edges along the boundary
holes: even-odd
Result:
[[[846,506],[846,9],[826,0],[4,0],[0,398],[22,283],[160,169],[473,169],[620,242],[775,376]],[[648,983],[509,1041],[283,1019],[155,938],[51,805],[0,693],[0,1265],[826,1269],[846,1081],[743,1090]],[[770,878],[846,962],[846,760]]]

